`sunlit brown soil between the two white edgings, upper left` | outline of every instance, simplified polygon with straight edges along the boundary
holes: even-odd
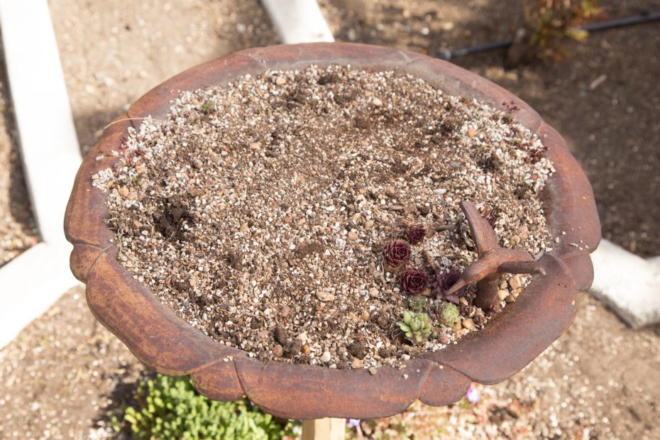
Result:
[[[165,79],[276,43],[258,0],[49,0],[80,147]]]

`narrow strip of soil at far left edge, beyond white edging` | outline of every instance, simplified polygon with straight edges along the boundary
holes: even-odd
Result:
[[[38,242],[0,47],[0,267]]]

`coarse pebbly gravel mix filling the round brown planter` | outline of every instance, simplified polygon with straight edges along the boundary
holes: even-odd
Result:
[[[424,297],[407,304],[443,298],[445,274],[475,259],[460,200],[503,246],[551,248],[543,150],[507,114],[421,79],[312,66],[182,93],[94,185],[119,260],[189,324],[262,359],[368,368],[485,324],[470,291],[445,298],[464,329]],[[502,281],[504,305],[527,277]],[[407,308],[430,314],[430,340],[403,343]]]

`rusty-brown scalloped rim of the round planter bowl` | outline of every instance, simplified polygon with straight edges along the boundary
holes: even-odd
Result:
[[[136,119],[145,116],[165,119],[170,100],[178,91],[311,64],[395,70],[497,109],[503,102],[513,103],[518,109],[511,116],[538,134],[556,169],[542,197],[553,236],[563,238],[539,260],[537,271],[545,275],[535,275],[517,301],[484,329],[441,351],[423,353],[407,361],[402,369],[382,367],[372,375],[368,370],[264,362],[211,340],[160,304],[120,265],[118,249],[109,242],[114,232],[105,223],[109,216],[106,194],[92,187],[92,175],[117,160],[109,153],[116,150],[127,128],[137,128],[140,121]],[[449,62],[348,43],[244,50],[193,67],[155,87],[106,128],[101,141],[85,158],[67,207],[65,231],[75,245],[71,269],[87,284],[89,308],[143,363],[167,375],[191,375],[197,390],[211,399],[248,396],[266,412],[290,419],[386,417],[404,411],[415,399],[428,405],[449,405],[461,399],[473,382],[494,384],[509,378],[571,325],[576,315],[576,296],[590,286],[593,278],[589,253],[600,241],[600,223],[589,182],[563,138],[536,111],[497,85]],[[488,251],[490,244],[483,250]]]

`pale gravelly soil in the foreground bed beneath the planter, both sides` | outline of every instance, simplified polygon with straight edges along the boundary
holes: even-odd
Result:
[[[79,287],[0,350],[0,365],[3,439],[110,438],[107,412],[131,402],[144,373],[94,319]],[[390,439],[657,439],[657,383],[660,327],[628,329],[582,294],[566,334],[512,378],[478,385],[477,405],[417,402],[363,426]]]

